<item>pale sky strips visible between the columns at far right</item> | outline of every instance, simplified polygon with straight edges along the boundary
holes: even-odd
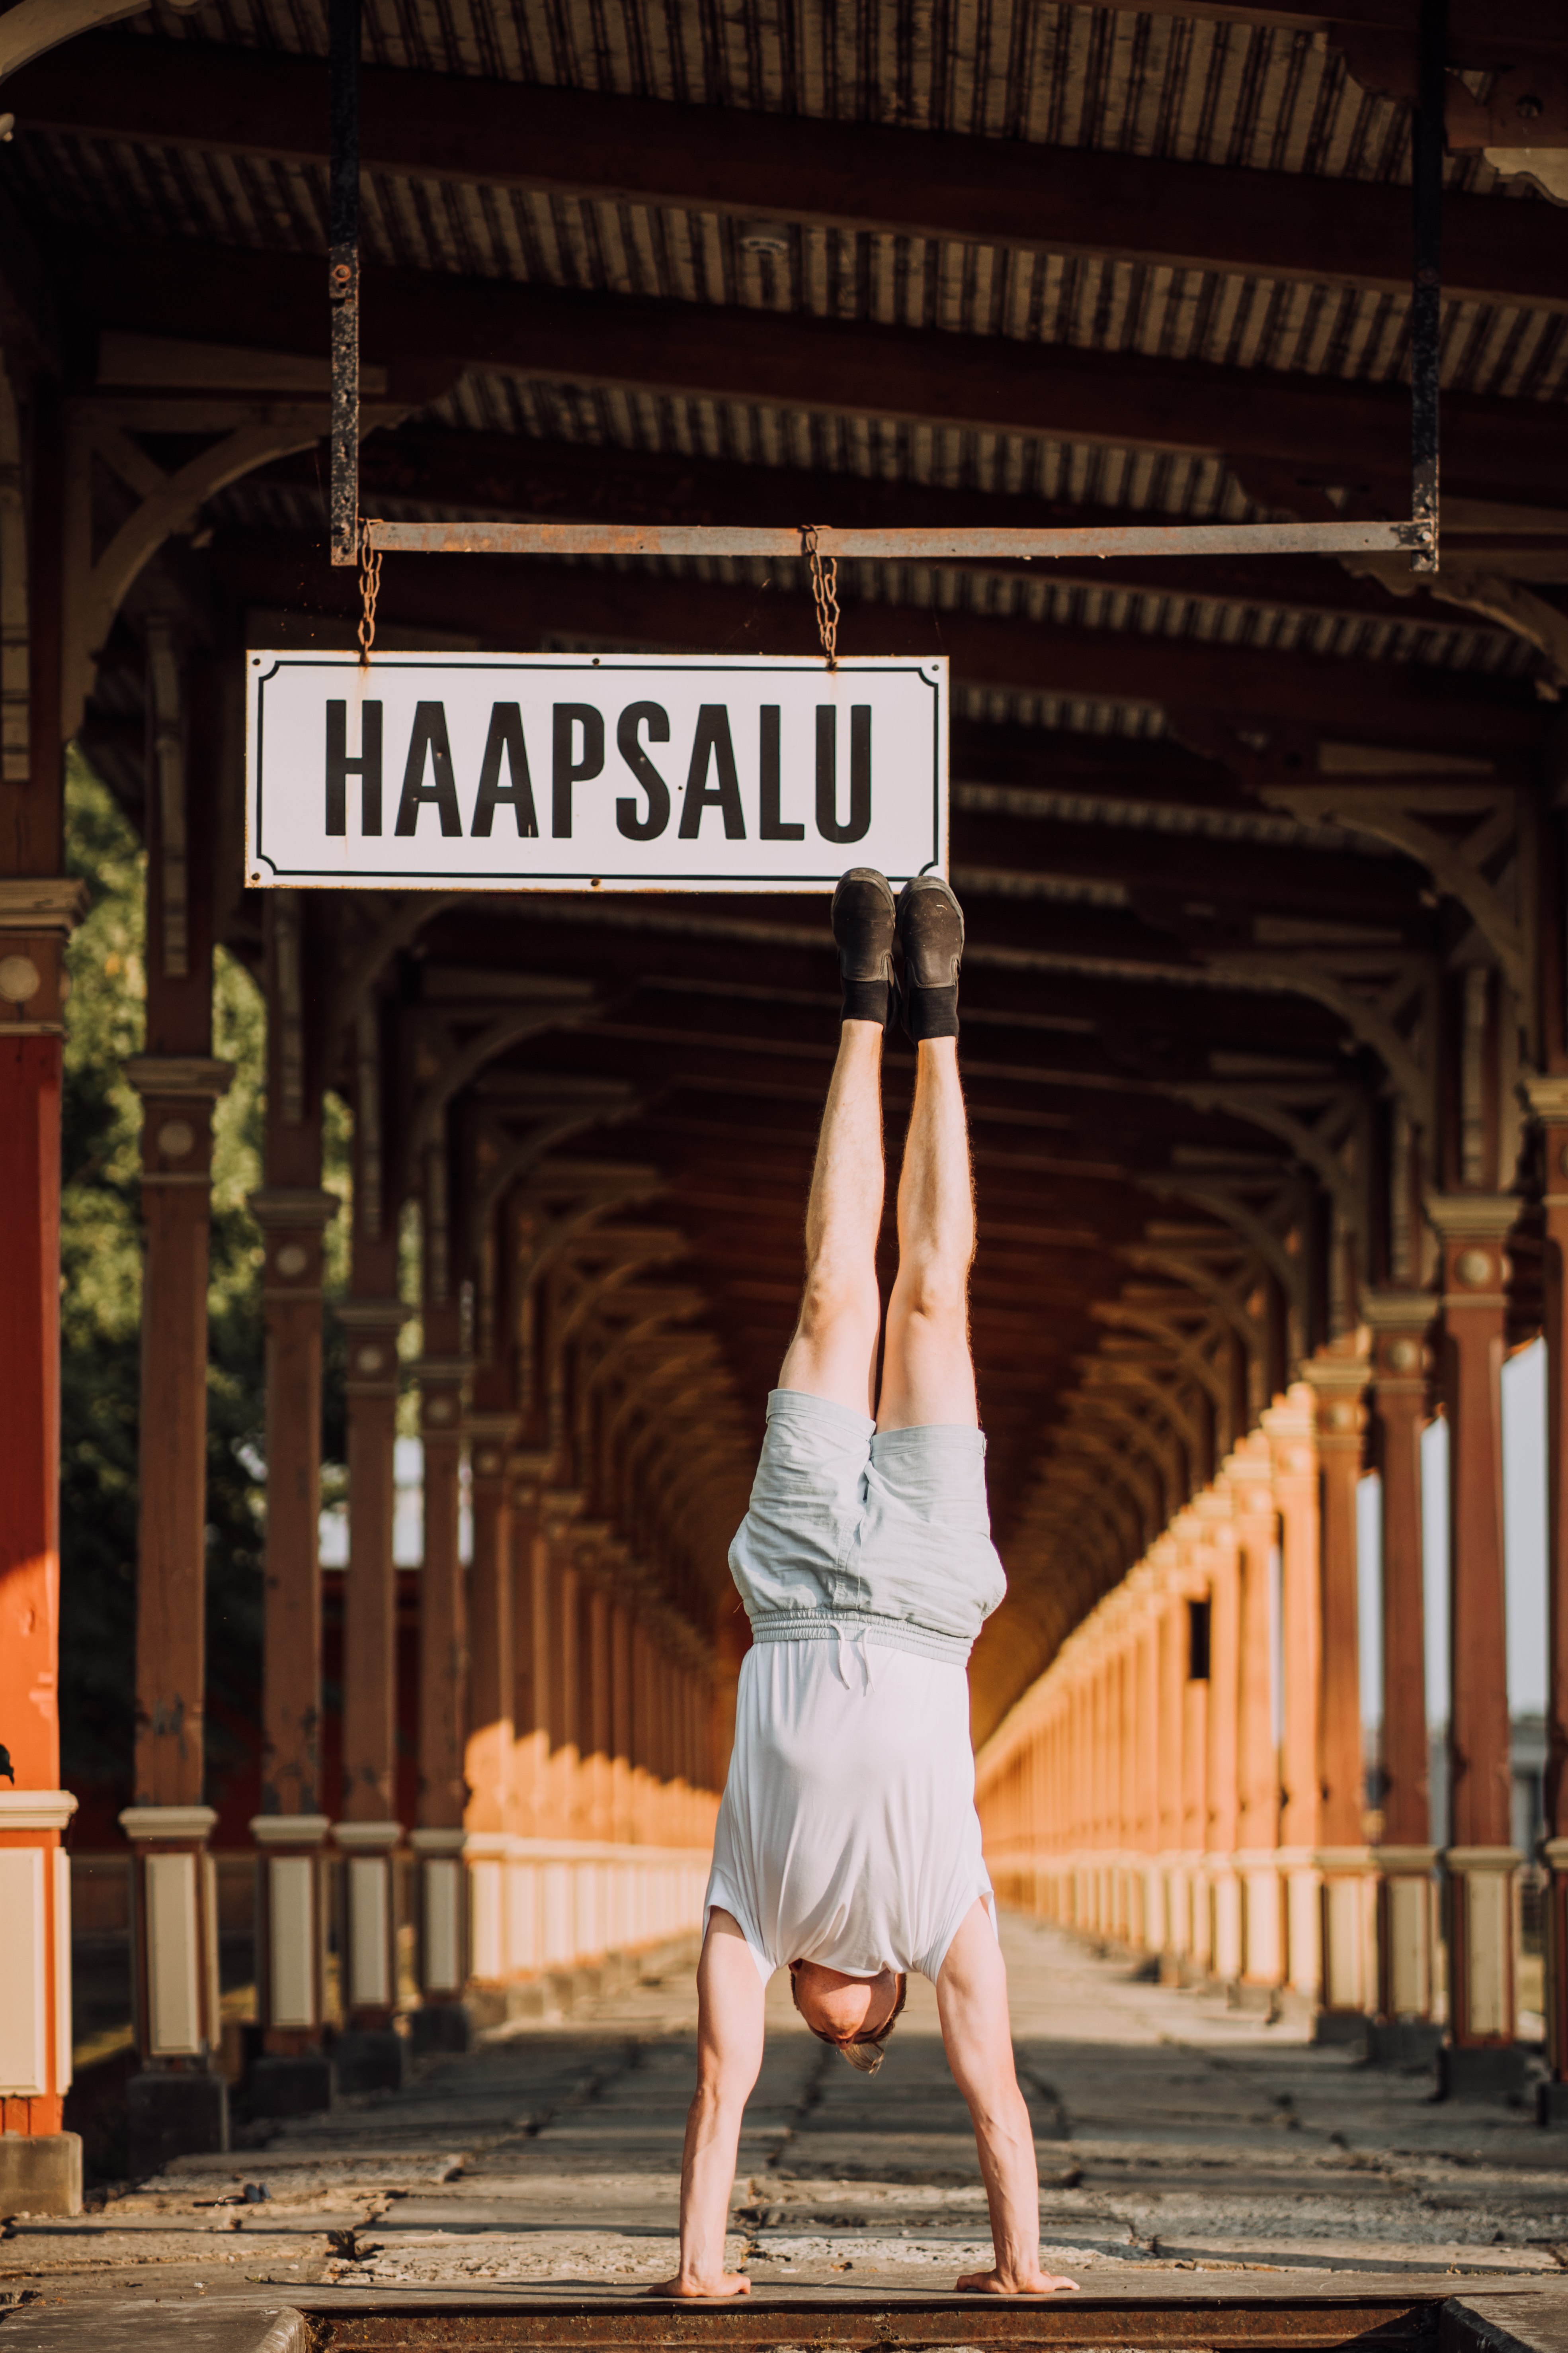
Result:
[[[1448,1720],[1448,1424],[1422,1438],[1427,1586],[1427,1715]],[[1356,1494],[1361,1588],[1361,1715],[1382,1720],[1382,1581],[1378,1473]],[[1547,1706],[1547,1348],[1533,1341],[1502,1367],[1502,1544],[1509,1713]]]

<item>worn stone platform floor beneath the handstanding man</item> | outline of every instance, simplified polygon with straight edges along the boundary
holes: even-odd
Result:
[[[1046,2261],[1095,2294],[1563,2282],[1568,2132],[1434,2104],[1215,1998],[1138,1981],[1006,1920]],[[221,2160],[181,2160],[80,2221],[14,2219],[0,2353],[249,2346],[339,2297],[625,2294],[668,2278],[696,1995],[686,1969],[569,2021],[501,2028]],[[256,2127],[252,2127],[256,2129]],[[266,2200],[244,2205],[244,2184]],[[985,2266],[985,2198],[924,1981],[875,2080],[769,1991],[731,2259],[759,2289],[884,2299]],[[103,2334],[108,2332],[108,2334]]]

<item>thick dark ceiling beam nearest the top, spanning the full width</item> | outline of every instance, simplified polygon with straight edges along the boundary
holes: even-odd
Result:
[[[19,125],[277,162],[327,153],[320,61],[190,40],[78,40],[7,85]],[[1150,268],[1406,294],[1403,188],[1013,139],[367,66],[367,172],[531,188]],[[1568,308],[1568,221],[1547,202],[1453,195],[1453,299]]]

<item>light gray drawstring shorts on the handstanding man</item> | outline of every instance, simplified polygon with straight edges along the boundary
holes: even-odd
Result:
[[[950,1421],[877,1431],[846,1405],[776,1388],[729,1567],[759,1642],[863,1626],[961,1664],[1006,1593],[985,1438]]]

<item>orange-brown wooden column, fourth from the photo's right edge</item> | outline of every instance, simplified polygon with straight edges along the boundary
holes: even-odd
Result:
[[[1375,1878],[1366,1842],[1366,1760],[1361,1744],[1361,1607],[1356,1577],[1356,1485],[1361,1478],[1366,1360],[1319,1353],[1302,1365],[1316,1398],[1319,1454],[1319,1873],[1324,1906],[1324,1991],[1316,2038],[1361,2040],[1378,2000]]]

